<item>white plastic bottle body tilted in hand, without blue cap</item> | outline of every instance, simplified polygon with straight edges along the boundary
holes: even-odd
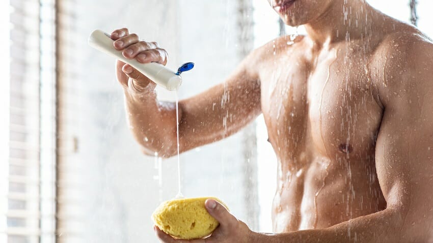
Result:
[[[95,30],[89,37],[90,46],[131,65],[150,80],[168,90],[176,90],[182,83],[182,77],[180,75],[177,75],[175,72],[166,68],[162,64],[142,64],[136,59],[125,58],[122,55],[122,51],[116,50],[116,48],[114,48],[113,42],[114,41],[110,38],[110,35],[100,31],[99,29]]]

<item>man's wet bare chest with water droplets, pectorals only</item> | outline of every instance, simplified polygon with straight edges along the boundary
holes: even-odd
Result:
[[[276,57],[261,77],[274,149],[296,153],[310,147],[322,155],[360,157],[374,149],[382,108],[368,70],[368,58],[349,50]]]

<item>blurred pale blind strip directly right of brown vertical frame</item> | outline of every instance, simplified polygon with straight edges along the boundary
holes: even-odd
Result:
[[[100,2],[100,1],[99,1]],[[96,4],[96,3],[95,3]],[[86,16],[77,16],[79,1],[57,2],[57,90],[58,90],[58,201],[57,242],[85,242],[85,211],[87,201],[84,191],[89,181],[83,181],[83,157],[80,147],[80,122],[83,116],[80,104],[84,89],[80,87],[79,61],[87,46],[87,36],[77,29],[77,22]],[[95,12],[94,14],[100,14]],[[81,18],[80,18],[81,17]],[[82,157],[83,156],[83,157]],[[86,160],[84,160],[86,161]]]

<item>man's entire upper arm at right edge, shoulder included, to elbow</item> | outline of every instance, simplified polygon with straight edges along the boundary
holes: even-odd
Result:
[[[416,224],[426,232],[433,221],[433,60],[427,49],[407,52],[407,73],[387,73],[388,85],[380,88],[385,112],[375,162],[388,207],[401,213],[404,229]]]

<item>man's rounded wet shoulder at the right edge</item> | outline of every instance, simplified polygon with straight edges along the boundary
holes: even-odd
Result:
[[[433,42],[415,27],[385,35],[370,63],[383,103],[402,90],[409,99],[409,90],[433,84],[427,78],[433,75]]]

